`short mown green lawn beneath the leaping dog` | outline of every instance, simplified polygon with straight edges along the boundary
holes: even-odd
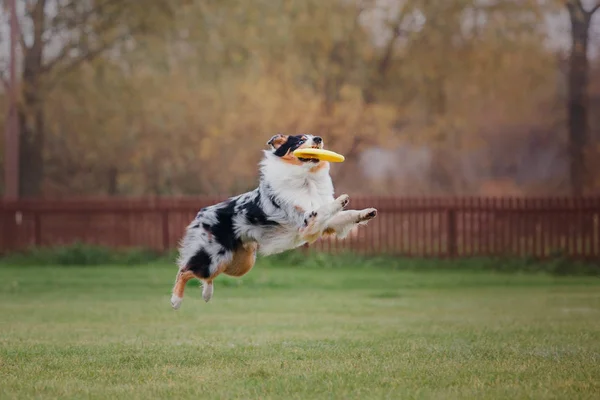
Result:
[[[600,279],[260,267],[0,267],[0,398],[584,399]]]

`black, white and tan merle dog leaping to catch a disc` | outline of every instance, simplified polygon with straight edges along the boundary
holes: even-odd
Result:
[[[201,209],[187,226],[179,246],[179,271],[171,305],[178,309],[186,283],[202,281],[202,298],[213,296],[213,281],[221,273],[240,277],[256,261],[324,235],[345,238],[377,215],[377,210],[345,210],[349,196],[334,198],[329,162],[298,158],[299,148],[323,148],[313,135],[277,134],[267,142],[256,189]]]

